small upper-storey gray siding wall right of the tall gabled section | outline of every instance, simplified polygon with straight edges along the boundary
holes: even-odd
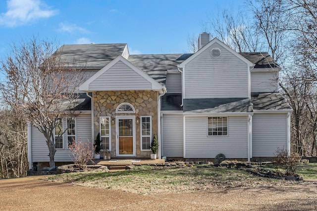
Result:
[[[251,92],[274,92],[277,91],[278,73],[251,73]]]

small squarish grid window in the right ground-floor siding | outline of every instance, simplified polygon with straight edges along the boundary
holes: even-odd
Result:
[[[228,135],[227,117],[208,117],[208,136]]]

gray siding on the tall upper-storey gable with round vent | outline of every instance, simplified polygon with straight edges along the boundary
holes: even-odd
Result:
[[[211,49],[221,55],[211,57]],[[248,65],[214,43],[185,66],[184,98],[248,97]]]

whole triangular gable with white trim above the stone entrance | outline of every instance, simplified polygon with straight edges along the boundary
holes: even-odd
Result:
[[[82,84],[79,89],[85,91],[107,90],[161,90],[159,84],[139,68],[118,56]]]

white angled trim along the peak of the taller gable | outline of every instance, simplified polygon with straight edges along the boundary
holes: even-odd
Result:
[[[231,52],[232,54],[234,54],[235,56],[237,56],[239,59],[241,59],[242,61],[244,61],[245,63],[248,64],[248,66],[253,67],[255,64],[253,64],[252,62],[250,62],[250,60],[246,59],[245,57],[243,57],[242,55],[240,55],[239,53],[237,53],[235,50],[233,50],[231,47],[229,47],[228,45],[226,45],[225,43],[221,42],[220,40],[218,40],[217,38],[213,38],[210,42],[208,42],[204,47],[202,47],[201,49],[199,49],[196,53],[194,53],[192,56],[190,56],[188,59],[186,59],[184,62],[182,62],[179,67],[183,68],[185,67],[185,65],[187,63],[189,63],[191,60],[193,60],[194,58],[196,58],[198,55],[200,55],[202,52],[204,52],[207,48],[209,48],[212,44],[217,43],[219,45],[221,45],[223,48],[225,48],[226,50],[228,50],[229,52]]]

